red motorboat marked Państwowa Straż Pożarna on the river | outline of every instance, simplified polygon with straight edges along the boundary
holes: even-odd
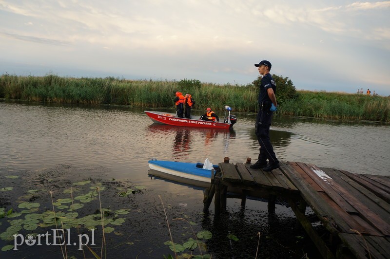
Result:
[[[227,117],[225,117],[224,122],[214,122],[214,121],[204,121],[193,118],[179,118],[176,113],[162,112],[162,111],[145,111],[145,113],[152,119],[155,123],[167,124],[173,126],[185,126],[185,127],[197,127],[197,128],[210,128],[210,129],[229,129],[233,127],[234,123],[237,121],[237,118],[234,115],[230,114],[232,108],[225,106],[226,110],[229,111]]]

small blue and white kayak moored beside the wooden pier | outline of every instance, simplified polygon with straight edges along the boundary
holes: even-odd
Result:
[[[185,163],[174,161],[163,161],[152,159],[148,162],[150,169],[154,170],[157,175],[169,180],[187,179],[193,181],[199,181],[203,183],[211,183],[211,175],[218,169],[218,166],[213,165],[213,169],[203,169],[204,163]],[[156,174],[156,172],[162,172],[165,175]],[[169,177],[174,176],[174,178]]]

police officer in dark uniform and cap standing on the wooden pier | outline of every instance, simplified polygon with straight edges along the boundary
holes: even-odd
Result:
[[[273,111],[277,109],[275,97],[276,84],[273,80],[270,70],[271,62],[262,60],[258,64],[258,71],[263,77],[261,78],[260,93],[258,97],[259,111],[256,117],[255,131],[257,140],[260,145],[260,153],[256,163],[251,168],[263,168],[263,171],[272,171],[279,167],[279,161],[270,141],[270,126],[273,117]],[[268,159],[268,163],[267,163]]]

